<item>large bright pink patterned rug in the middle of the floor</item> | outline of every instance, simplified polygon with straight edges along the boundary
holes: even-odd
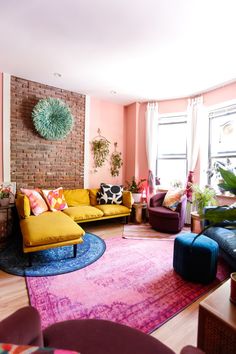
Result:
[[[30,303],[43,328],[67,319],[99,318],[149,333],[224,280],[219,264],[208,286],[184,281],[172,268],[173,240],[106,240],[92,265],[63,275],[27,277]]]

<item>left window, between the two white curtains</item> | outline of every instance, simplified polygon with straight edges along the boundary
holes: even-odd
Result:
[[[157,140],[156,176],[162,186],[181,182],[187,175],[187,116],[163,116],[159,118]]]

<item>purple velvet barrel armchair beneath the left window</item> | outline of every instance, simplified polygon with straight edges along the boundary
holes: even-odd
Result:
[[[181,202],[175,211],[162,206],[166,192],[158,192],[150,199],[148,208],[150,225],[162,232],[177,233],[182,230],[186,215],[186,195],[182,196]]]

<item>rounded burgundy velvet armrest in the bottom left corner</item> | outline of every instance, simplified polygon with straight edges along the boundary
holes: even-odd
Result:
[[[17,310],[0,322],[0,342],[43,346],[41,321],[32,306]]]

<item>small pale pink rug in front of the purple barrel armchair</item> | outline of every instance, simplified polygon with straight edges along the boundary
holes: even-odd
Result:
[[[125,224],[123,238],[133,240],[170,240],[183,232],[190,232],[190,227],[184,227],[178,234],[168,234],[154,230],[150,224]]]

